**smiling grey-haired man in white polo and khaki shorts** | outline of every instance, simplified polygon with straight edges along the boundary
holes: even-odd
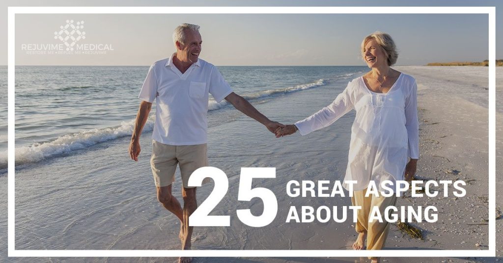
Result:
[[[197,203],[196,189],[189,187],[187,182],[194,170],[208,166],[208,93],[217,102],[227,100],[237,110],[262,123],[273,133],[284,126],[270,121],[245,99],[233,93],[218,69],[199,59],[202,44],[199,26],[178,26],[173,33],[173,41],[177,52],[170,58],[153,63],[141,87],[138,98],[142,102],[136,116],[129,154],[133,160],[138,160],[141,130],[147,121],[152,102],[156,100],[150,164],[157,199],[180,219],[182,249],[190,249],[193,227],[189,226],[189,216],[196,210]],[[171,184],[175,179],[177,164],[182,176],[183,208],[172,196]],[[203,184],[208,180],[207,178]],[[179,259],[179,262],[190,261],[191,258],[187,257]]]

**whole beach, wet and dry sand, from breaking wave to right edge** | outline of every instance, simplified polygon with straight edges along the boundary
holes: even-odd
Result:
[[[463,180],[466,196],[436,198],[405,196],[396,206],[439,209],[435,223],[413,222],[424,240],[390,228],[386,249],[488,249],[488,68],[472,66],[397,66],[418,84],[420,160],[417,179]],[[253,98],[256,108],[272,120],[291,124],[328,105],[351,78],[318,76],[297,81],[294,92]],[[224,74],[225,76],[225,74]],[[338,75],[339,76],[339,75]],[[237,81],[237,80],[236,80]],[[140,81],[141,82],[141,81]],[[230,83],[230,82],[229,82]],[[311,84],[314,83],[314,84]],[[316,84],[318,83],[318,84]],[[322,84],[319,84],[322,83]],[[308,84],[311,84],[309,86]],[[307,86],[306,86],[307,85]],[[287,85],[293,86],[296,85]],[[304,87],[306,87],[304,89]],[[276,89],[276,88],[275,88]],[[270,89],[271,90],[271,89]],[[274,89],[272,89],[274,90]],[[131,98],[133,104],[138,101]],[[208,156],[211,166],[224,171],[229,190],[212,215],[230,215],[229,227],[196,227],[193,249],[350,249],[356,239],[354,223],[286,223],[291,206],[350,206],[349,197],[292,198],[290,180],[343,180],[348,161],[352,111],[331,126],[307,136],[296,133],[275,138],[259,123],[233,109],[215,111],[209,118]],[[496,178],[503,170],[503,68],[496,68]],[[136,163],[129,159],[128,136],[78,148],[16,170],[17,249],[179,249],[180,225],[155,198],[150,170],[151,130],[144,132]],[[270,189],[278,201],[275,220],[260,228],[247,226],[237,209],[260,214],[260,199],[237,201],[241,167],[276,167],[275,179],[254,180],[253,187]],[[177,171],[179,176],[179,171]],[[0,176],[0,236],[7,237],[7,174]],[[180,180],[173,185],[181,196]],[[496,209],[503,208],[503,183],[496,180]],[[198,189],[202,202],[213,184]],[[347,193],[347,192],[346,192]],[[496,258],[503,261],[502,220],[496,220]],[[0,254],[7,238],[0,239]],[[386,262],[403,258],[385,257]],[[494,258],[411,257],[409,262],[493,262]],[[9,262],[174,262],[176,258],[9,258]],[[367,262],[361,258],[195,258],[193,262]]]

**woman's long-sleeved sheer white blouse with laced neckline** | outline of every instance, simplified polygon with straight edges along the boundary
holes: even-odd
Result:
[[[382,191],[380,182],[403,180],[408,157],[419,158],[416,93],[415,79],[404,73],[385,94],[370,91],[358,77],[330,105],[295,125],[306,135],[355,109],[344,180],[357,181],[354,191],[364,190],[373,180]]]

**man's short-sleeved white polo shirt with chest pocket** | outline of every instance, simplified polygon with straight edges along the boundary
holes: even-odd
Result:
[[[150,66],[138,96],[156,101],[152,139],[169,145],[206,143],[208,93],[220,102],[232,90],[211,63],[198,59],[182,74],[173,55]]]

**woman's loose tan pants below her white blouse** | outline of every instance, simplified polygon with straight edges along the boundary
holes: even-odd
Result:
[[[388,237],[389,224],[386,220],[379,222],[378,220],[373,220],[369,222],[369,214],[373,207],[379,207],[379,212],[384,218],[384,209],[388,206],[394,206],[396,203],[396,197],[376,197],[374,195],[369,195],[365,197],[365,192],[367,189],[361,191],[354,191],[351,202],[353,206],[361,206],[362,209],[358,210],[358,221],[356,223],[356,232],[361,233],[367,231],[367,249],[368,250],[379,250],[384,247],[386,243],[386,238]],[[376,257],[369,256],[369,259],[374,259]]]

